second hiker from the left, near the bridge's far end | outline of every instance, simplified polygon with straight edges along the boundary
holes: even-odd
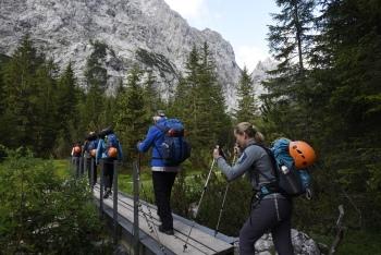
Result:
[[[88,173],[88,182],[90,186],[94,186],[97,183],[97,165],[95,160],[96,151],[98,147],[98,136],[97,134],[93,131],[90,132],[86,137],[85,137],[85,143],[83,146],[83,158],[86,160],[86,170]],[[93,163],[93,169],[91,169],[91,161]],[[91,180],[91,172],[93,172],[93,180]]]

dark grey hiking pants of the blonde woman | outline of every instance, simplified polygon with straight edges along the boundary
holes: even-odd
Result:
[[[294,255],[291,241],[291,198],[261,199],[253,209],[239,232],[239,255],[254,255],[255,243],[271,229],[279,255]]]

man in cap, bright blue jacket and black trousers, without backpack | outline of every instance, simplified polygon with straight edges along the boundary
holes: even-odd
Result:
[[[165,125],[168,121],[165,112],[158,110],[153,114],[153,123]],[[162,224],[159,231],[165,234],[173,234],[173,217],[171,209],[171,192],[174,180],[180,169],[180,163],[175,166],[165,166],[162,160],[161,144],[164,141],[164,133],[156,125],[152,125],[147,133],[146,138],[137,144],[139,151],[146,153],[152,147],[152,182],[156,204],[158,206],[158,216]]]

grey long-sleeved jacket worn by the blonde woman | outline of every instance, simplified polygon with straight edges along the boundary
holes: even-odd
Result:
[[[267,154],[267,151],[255,145],[255,141],[249,141],[246,145],[246,148],[241,154],[241,157],[236,165],[233,167],[229,166],[228,162],[223,159],[223,157],[218,157],[217,162],[221,171],[228,177],[230,181],[236,180],[239,177],[246,173],[246,177],[250,181],[253,187],[256,191],[259,191],[261,186],[265,184],[275,182],[275,169],[272,162],[272,159]],[[255,174],[255,168],[257,171],[262,172],[269,180],[267,180],[262,174],[258,173],[258,183]],[[276,194],[276,197],[283,197],[280,193]],[[265,198],[272,198],[272,194],[266,196]]]

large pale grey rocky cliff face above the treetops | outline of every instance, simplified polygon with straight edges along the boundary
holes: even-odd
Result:
[[[91,41],[107,46],[99,60],[107,70],[112,92],[133,62],[152,71],[156,86],[169,95],[195,44],[205,41],[214,57],[217,73],[229,108],[236,107],[235,92],[241,69],[232,46],[220,34],[190,27],[163,0],[2,0],[0,2],[0,52],[11,56],[26,32],[37,49],[63,70],[72,61],[81,86],[95,50]]]

